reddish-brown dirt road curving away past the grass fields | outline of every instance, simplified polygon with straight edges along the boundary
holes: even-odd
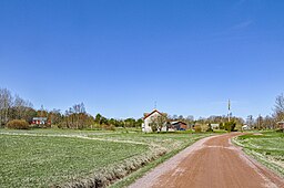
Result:
[[[131,185],[131,188],[281,187],[284,180],[231,144],[237,133],[201,139]]]

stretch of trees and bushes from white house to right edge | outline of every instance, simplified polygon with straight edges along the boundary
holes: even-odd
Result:
[[[251,129],[275,129],[281,128],[277,123],[284,121],[284,95],[280,94],[275,98],[275,105],[273,107],[272,114],[266,116],[258,115],[253,117],[248,115],[246,119],[242,117],[227,115],[210,116],[210,117],[200,117],[194,119],[192,115],[184,117],[182,115],[166,115],[159,116],[151,119],[151,128],[153,132],[161,130],[163,126],[170,126],[170,122],[181,121],[187,124],[189,128],[200,129],[200,132],[212,130],[211,124],[219,124],[220,129],[231,130],[241,130],[243,125],[248,125]],[[284,122],[283,122],[284,123]]]

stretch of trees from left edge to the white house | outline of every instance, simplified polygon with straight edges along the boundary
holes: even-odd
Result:
[[[6,127],[9,122],[21,119],[33,124],[33,117],[47,117],[47,122],[34,127],[59,127],[59,128],[105,128],[114,127],[140,127],[142,119],[125,118],[115,119],[106,118],[101,114],[92,116],[87,113],[84,104],[74,104],[64,112],[53,108],[52,111],[36,109],[32,103],[23,100],[19,95],[12,95],[8,88],[0,88],[0,127]]]

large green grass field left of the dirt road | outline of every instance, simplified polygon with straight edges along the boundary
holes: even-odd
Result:
[[[139,165],[162,154],[173,155],[205,136],[209,134],[0,129],[0,187],[68,185],[98,174],[121,179],[128,175],[126,168],[136,170]]]

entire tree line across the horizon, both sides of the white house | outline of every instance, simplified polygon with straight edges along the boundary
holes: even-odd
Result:
[[[60,128],[105,128],[113,129],[114,127],[141,127],[143,119],[139,118],[108,118],[101,114],[92,116],[88,114],[83,103],[74,104],[64,112],[61,109],[48,111],[41,107],[36,109],[32,103],[28,100],[23,100],[19,95],[12,95],[8,88],[0,88],[0,127],[4,127],[10,121],[23,119],[29,124],[32,124],[33,117],[47,117],[48,122],[42,127],[60,127]],[[209,125],[220,124],[221,128],[224,128],[227,123],[227,116],[210,116],[200,117],[194,119],[192,115],[183,117],[182,115],[166,115],[165,119],[160,119],[159,123],[153,124],[156,129],[161,128],[160,122],[173,122],[182,121],[193,128],[195,125]],[[277,123],[284,121],[284,95],[283,93],[277,95],[271,115],[253,117],[248,115],[246,119],[242,117],[231,117],[231,122],[240,126],[247,124],[251,128],[267,129],[277,128]],[[160,126],[159,126],[160,125]],[[239,126],[239,127],[237,127]]]

